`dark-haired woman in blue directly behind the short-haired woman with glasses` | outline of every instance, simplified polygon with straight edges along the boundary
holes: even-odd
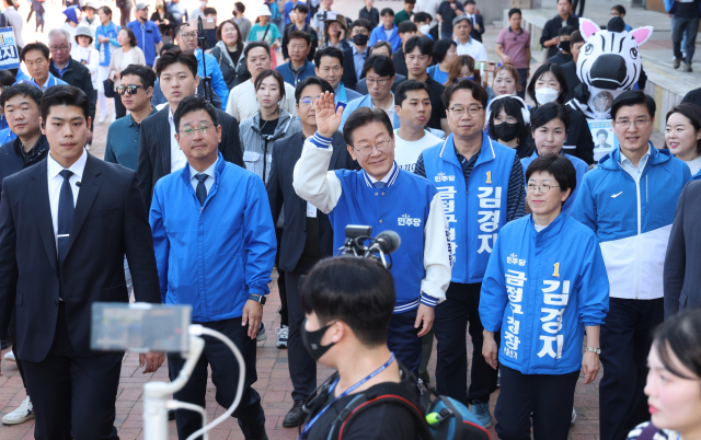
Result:
[[[567,198],[567,201],[562,206],[562,212],[570,216],[574,208],[574,200],[577,198],[579,184],[584,178],[584,174],[589,171],[589,165],[587,165],[585,161],[562,151],[562,147],[565,144],[565,139],[567,138],[567,130],[570,129],[570,115],[566,108],[558,103],[541,105],[533,112],[531,127],[533,141],[536,142],[536,151],[533,151],[529,158],[521,159],[524,174],[526,174],[525,172],[528,165],[539,155],[560,154],[563,158],[567,158],[577,172],[577,185],[572,190],[572,195]],[[528,180],[526,181],[528,183]]]

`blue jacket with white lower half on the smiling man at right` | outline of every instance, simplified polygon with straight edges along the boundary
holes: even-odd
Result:
[[[651,144],[636,183],[620,165],[616,148],[585,174],[572,217],[599,239],[611,297],[663,297],[663,268],[677,200],[691,181],[689,166]]]

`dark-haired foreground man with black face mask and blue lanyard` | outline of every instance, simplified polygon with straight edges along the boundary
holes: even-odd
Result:
[[[307,276],[301,301],[304,347],[315,361],[338,370],[325,382],[329,386],[306,402],[311,413],[301,439],[338,438],[344,421],[346,439],[413,439],[416,421],[397,403],[379,403],[353,419],[336,420],[360,394],[416,400],[407,370],[387,347],[395,301],[391,274],[366,258],[327,258]]]

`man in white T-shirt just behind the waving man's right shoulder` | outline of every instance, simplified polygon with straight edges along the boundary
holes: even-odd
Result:
[[[394,111],[402,126],[394,130],[394,161],[410,173],[416,167],[421,152],[443,142],[424,127],[430,118],[430,89],[421,81],[406,80],[397,86]]]

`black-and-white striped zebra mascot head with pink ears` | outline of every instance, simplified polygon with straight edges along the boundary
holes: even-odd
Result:
[[[577,59],[577,77],[590,89],[630,90],[640,77],[642,46],[653,33],[653,26],[624,31],[620,16],[612,18],[606,30],[587,19],[579,19],[579,32],[585,39]]]

